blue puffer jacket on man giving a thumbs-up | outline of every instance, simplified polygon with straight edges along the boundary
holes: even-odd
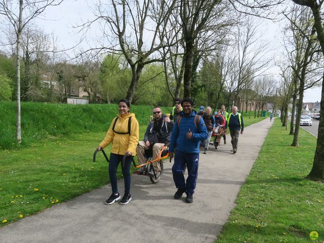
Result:
[[[169,152],[174,152],[175,147],[177,147],[177,150],[184,153],[199,153],[200,141],[208,138],[208,132],[203,117],[200,117],[199,131],[197,130],[194,125],[195,115],[195,110],[192,110],[190,116],[185,116],[181,112],[180,124],[178,126],[176,120],[172,130]],[[191,139],[188,139],[186,135],[189,129],[192,132]]]

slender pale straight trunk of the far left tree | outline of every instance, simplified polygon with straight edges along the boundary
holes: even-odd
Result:
[[[22,31],[22,5],[23,0],[19,1],[19,20],[17,30],[17,120],[16,120],[16,138],[18,144],[21,143],[21,121],[20,121],[20,48]]]

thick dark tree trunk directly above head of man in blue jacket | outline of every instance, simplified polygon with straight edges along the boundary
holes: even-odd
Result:
[[[184,88],[184,98],[191,98],[191,80],[192,80],[192,61],[193,61],[193,51],[194,51],[193,40],[186,40],[186,53],[184,55],[184,74],[183,74],[183,88]]]

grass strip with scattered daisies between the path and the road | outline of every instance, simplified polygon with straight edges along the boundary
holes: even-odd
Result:
[[[215,242],[323,242],[324,184],[305,179],[316,138],[300,129],[300,147],[292,141],[276,119]]]

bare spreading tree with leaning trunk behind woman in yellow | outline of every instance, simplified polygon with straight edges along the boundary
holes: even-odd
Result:
[[[105,41],[113,40],[110,47],[98,50],[121,53],[132,69],[132,80],[126,98],[132,101],[140,74],[145,65],[162,62],[155,55],[164,45],[164,35],[176,0],[170,1],[98,1],[96,19],[84,23],[84,29],[98,21],[102,24]],[[107,27],[109,29],[107,29]],[[163,33],[158,38],[158,33]]]

